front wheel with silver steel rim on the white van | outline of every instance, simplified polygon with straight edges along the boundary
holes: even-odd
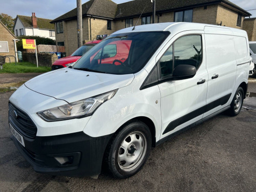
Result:
[[[150,155],[151,132],[141,121],[130,121],[111,139],[105,153],[105,163],[117,178],[135,175]]]

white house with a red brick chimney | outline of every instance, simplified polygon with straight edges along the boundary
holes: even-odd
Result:
[[[16,36],[31,35],[47,37],[55,40],[54,25],[50,24],[51,19],[38,18],[35,13],[32,16],[17,15],[13,26]]]

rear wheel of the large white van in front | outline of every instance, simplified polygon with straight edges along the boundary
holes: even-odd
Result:
[[[234,94],[234,98],[230,104],[229,114],[231,116],[238,115],[242,109],[243,102],[244,90],[241,87],[239,87],[236,94]]]

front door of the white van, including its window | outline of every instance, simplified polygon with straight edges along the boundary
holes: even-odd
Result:
[[[161,93],[161,138],[202,119],[205,112],[208,74],[205,63],[204,34],[182,32],[170,41],[157,57]],[[160,57],[160,58],[159,58]],[[172,80],[178,65],[193,65],[193,78]],[[169,80],[165,80],[165,79]]]

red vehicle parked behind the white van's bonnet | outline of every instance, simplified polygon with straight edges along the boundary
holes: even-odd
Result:
[[[52,71],[60,68],[69,67],[72,63],[77,61],[84,53],[89,51],[93,46],[98,44],[100,41],[101,40],[89,41],[86,44],[79,47],[72,55],[56,60],[52,65]]]

